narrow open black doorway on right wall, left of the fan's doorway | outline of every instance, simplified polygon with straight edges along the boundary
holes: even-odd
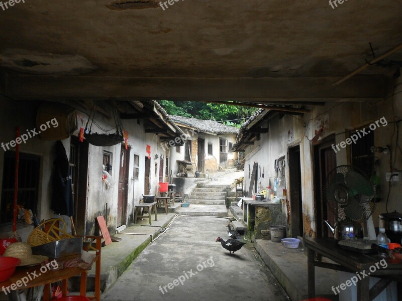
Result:
[[[290,229],[291,236],[304,236],[302,205],[302,171],[300,170],[300,146],[289,148]]]

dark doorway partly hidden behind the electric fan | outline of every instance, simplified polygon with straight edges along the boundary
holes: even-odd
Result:
[[[333,237],[323,221],[328,220],[332,225],[336,222],[336,216],[327,207],[323,197],[323,187],[328,174],[336,168],[336,153],[331,145],[335,144],[335,138],[326,140],[325,142],[314,147],[314,182],[315,182],[315,200],[316,200],[316,225],[317,237]],[[345,150],[346,151],[346,150]]]

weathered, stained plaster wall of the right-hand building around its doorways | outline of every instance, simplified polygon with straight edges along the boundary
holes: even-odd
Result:
[[[263,127],[269,126],[267,134],[261,134],[261,139],[255,142],[246,149],[246,164],[245,164],[245,184],[246,190],[250,185],[248,177],[248,165],[251,169],[254,162],[261,166],[261,177],[258,175],[258,186],[266,187],[269,181],[274,176],[274,160],[280,156],[286,155],[286,183],[288,183],[289,169],[287,148],[299,144],[300,146],[300,169],[302,174],[302,200],[303,200],[303,222],[304,232],[306,236],[316,235],[316,218],[315,218],[315,199],[314,199],[314,159],[313,159],[313,143],[309,140],[315,136],[315,130],[324,124],[325,128],[321,133],[322,139],[335,134],[336,144],[345,141],[348,138],[346,132],[354,131],[364,125],[369,125],[372,122],[385,117],[388,124],[379,126],[374,130],[375,146],[391,145],[392,162],[394,170],[402,170],[402,152],[395,148],[396,140],[402,142],[402,133],[398,133],[394,120],[402,119],[402,79],[398,78],[395,81],[394,87],[388,92],[388,97],[377,103],[328,103],[323,107],[314,107],[312,112],[305,114],[303,117],[297,117],[301,121],[296,120],[291,116],[283,118],[273,117]],[[392,110],[393,108],[393,110]],[[393,112],[392,112],[393,111]],[[303,126],[304,122],[307,127]],[[398,123],[400,125],[400,123]],[[390,171],[389,157],[390,154],[376,153],[379,159],[377,175],[380,177],[381,198],[382,200],[376,204],[376,209],[372,215],[374,225],[378,226],[378,215],[386,212],[386,198],[388,194],[389,183],[385,181],[385,173]],[[395,157],[396,156],[396,157]],[[341,148],[336,152],[337,165],[349,165],[350,148]],[[262,177],[265,168],[264,177]],[[287,184],[286,184],[287,185]],[[271,185],[272,186],[272,185]],[[402,203],[398,201],[398,196],[402,192],[402,182],[391,183],[391,192],[388,200],[388,211],[396,210],[402,212]],[[284,202],[282,202],[284,203]],[[283,204],[283,212],[288,212],[288,205]],[[289,219],[287,219],[289,222]]]

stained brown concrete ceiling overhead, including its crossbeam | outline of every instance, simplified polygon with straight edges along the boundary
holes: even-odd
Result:
[[[3,1],[4,2],[4,1]],[[14,99],[364,101],[386,96],[401,0],[25,0],[0,8],[0,91]],[[385,66],[386,65],[386,66]]]

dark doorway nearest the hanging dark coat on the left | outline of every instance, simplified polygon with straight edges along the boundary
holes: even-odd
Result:
[[[79,142],[78,137],[70,139],[70,169],[71,188],[74,200],[74,225],[77,235],[85,235],[86,202],[88,187],[88,147],[84,140]]]

